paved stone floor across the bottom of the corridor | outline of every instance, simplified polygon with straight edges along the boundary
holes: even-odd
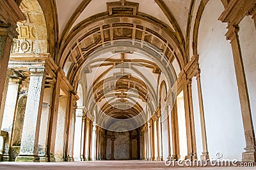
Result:
[[[207,167],[180,167],[178,165],[165,166],[164,162],[150,162],[150,161],[88,161],[88,162],[57,162],[57,163],[15,163],[15,162],[0,162],[0,169],[92,169],[92,170],[107,170],[107,169],[256,169],[254,167],[239,167],[240,163],[237,163],[237,167],[218,167],[210,166]]]

